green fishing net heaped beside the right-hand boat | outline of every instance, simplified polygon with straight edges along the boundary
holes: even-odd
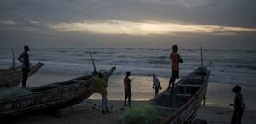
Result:
[[[155,124],[157,121],[157,109],[154,105],[138,104],[128,110],[122,116],[123,124]]]

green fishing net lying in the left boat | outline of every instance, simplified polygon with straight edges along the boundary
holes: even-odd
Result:
[[[1,88],[0,89],[0,99],[7,99],[9,97],[24,95],[31,93],[31,91],[22,87],[12,87],[12,88]]]

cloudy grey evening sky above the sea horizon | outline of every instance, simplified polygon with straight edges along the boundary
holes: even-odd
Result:
[[[0,48],[256,50],[255,0],[1,0]]]

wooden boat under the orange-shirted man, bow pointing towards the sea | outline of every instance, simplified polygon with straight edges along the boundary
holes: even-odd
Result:
[[[151,99],[157,107],[159,122],[183,124],[193,121],[207,93],[209,76],[210,70],[200,67],[176,83],[174,94],[166,89]]]

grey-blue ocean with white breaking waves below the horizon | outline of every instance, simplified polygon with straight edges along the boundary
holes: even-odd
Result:
[[[169,54],[172,49],[154,48],[90,48],[96,70],[116,66],[115,75],[125,76],[171,76]],[[23,48],[14,48],[15,65]],[[180,77],[200,66],[199,49],[179,49],[184,63],[180,65]],[[31,63],[43,62],[41,70],[89,74],[93,71],[89,48],[31,48]],[[203,50],[204,65],[211,70],[210,82],[246,84],[256,86],[256,51],[248,50]],[[208,63],[212,62],[211,66]],[[11,48],[1,48],[0,68],[12,65]]]

